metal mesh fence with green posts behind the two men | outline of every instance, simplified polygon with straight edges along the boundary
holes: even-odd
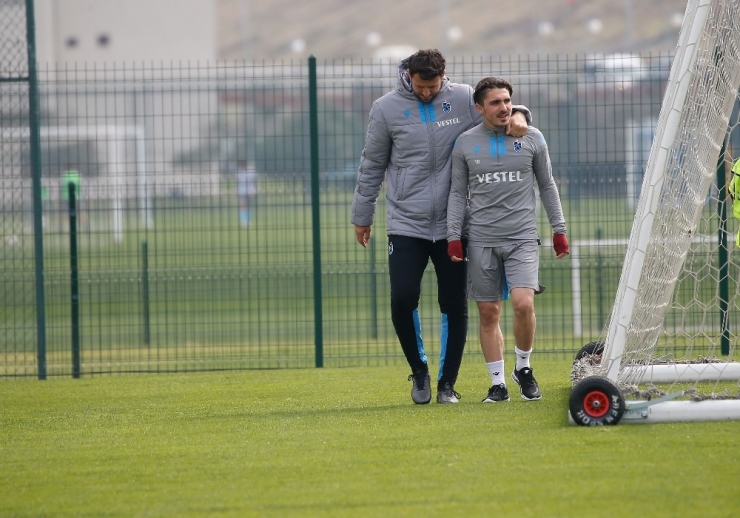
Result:
[[[640,63],[449,59],[453,81],[509,79],[548,140],[572,253],[542,248],[538,354],[572,354],[607,320],[670,56]],[[380,62],[43,65],[37,181],[28,87],[0,83],[0,376],[404,364],[384,200],[367,250],[349,221],[367,114],[395,83]],[[423,283],[434,357],[431,266]],[[506,307],[503,325],[511,349]]]

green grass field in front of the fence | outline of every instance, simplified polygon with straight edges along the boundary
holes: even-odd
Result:
[[[576,427],[570,361],[533,366],[495,405],[471,362],[454,406],[398,366],[6,380],[0,516],[740,513],[740,423]]]

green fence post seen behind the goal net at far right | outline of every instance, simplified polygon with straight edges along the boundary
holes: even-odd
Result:
[[[725,146],[722,144],[722,151],[719,154],[719,164],[717,164],[717,240],[719,246],[719,326],[720,350],[723,355],[730,354],[730,322],[728,301],[730,300],[730,291],[728,279],[730,275],[729,254],[727,253],[727,172],[725,170]]]

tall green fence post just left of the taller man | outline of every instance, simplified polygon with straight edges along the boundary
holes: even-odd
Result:
[[[316,367],[324,366],[324,317],[321,293],[321,211],[319,207],[319,107],[316,57],[308,58],[308,106],[311,133],[311,223],[313,225],[313,306]]]

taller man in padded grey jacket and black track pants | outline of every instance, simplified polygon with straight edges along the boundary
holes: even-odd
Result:
[[[458,402],[454,387],[467,334],[466,268],[447,257],[449,159],[455,139],[481,119],[472,88],[449,81],[445,64],[436,49],[416,52],[401,62],[395,90],[373,103],[352,202],[352,223],[364,247],[381,185],[387,182],[391,319],[411,367],[411,398],[416,404],[431,401],[418,312],[421,280],[430,259],[442,313],[438,403]],[[517,113],[512,120],[512,134],[524,135],[525,115]]]

